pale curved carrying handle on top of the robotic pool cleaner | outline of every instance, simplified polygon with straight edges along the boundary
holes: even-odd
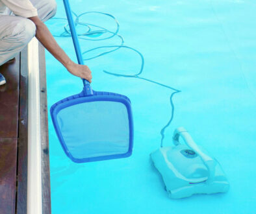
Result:
[[[203,163],[205,164],[205,166],[209,171],[207,182],[212,182],[212,180],[214,179],[216,161],[213,160],[210,156],[208,156],[204,152],[202,152],[201,149],[199,149],[198,145],[196,145],[196,143],[194,142],[194,140],[192,139],[188,131],[183,127],[179,127],[175,129],[173,133],[174,145],[181,144],[179,143],[179,136],[183,138],[183,140],[185,141],[186,145],[188,145],[188,147],[190,147],[191,149],[193,149],[195,152],[199,154],[199,156],[201,157],[201,160],[203,160]]]

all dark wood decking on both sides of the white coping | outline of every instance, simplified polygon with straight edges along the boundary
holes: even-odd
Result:
[[[42,213],[51,213],[49,143],[44,48],[40,54],[42,141]],[[0,86],[0,214],[27,213],[28,71],[27,49],[13,64],[0,66],[6,84]]]

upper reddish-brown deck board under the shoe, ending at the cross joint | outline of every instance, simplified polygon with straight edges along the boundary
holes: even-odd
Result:
[[[0,66],[6,84],[0,86],[0,137],[18,136],[19,56],[12,64]]]

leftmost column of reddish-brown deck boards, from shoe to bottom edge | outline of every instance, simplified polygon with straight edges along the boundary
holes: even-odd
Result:
[[[0,66],[6,84],[0,86],[0,213],[15,213],[19,110],[19,55]]]

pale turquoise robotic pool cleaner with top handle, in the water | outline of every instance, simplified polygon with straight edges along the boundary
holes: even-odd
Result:
[[[179,142],[179,136],[186,145]],[[173,144],[151,153],[151,160],[162,175],[170,198],[228,191],[229,182],[220,163],[202,152],[185,128],[175,130]]]

